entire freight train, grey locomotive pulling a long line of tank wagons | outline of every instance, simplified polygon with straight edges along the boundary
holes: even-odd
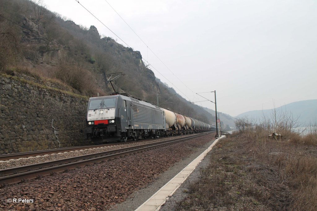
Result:
[[[213,130],[194,118],[118,94],[89,98],[84,133],[96,142],[126,142]]]

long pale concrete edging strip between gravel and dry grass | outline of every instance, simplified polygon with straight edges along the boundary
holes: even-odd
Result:
[[[207,153],[212,149],[219,141],[221,136],[217,138],[203,153],[189,163],[183,170],[181,170],[176,176],[174,176],[169,182],[167,182],[161,189],[153,194],[148,200],[146,200],[135,211],[157,211],[165,203],[168,198],[180,187],[180,185],[187,179],[187,177],[193,172],[196,166],[204,159]],[[176,182],[177,181],[177,182]],[[164,192],[164,193],[163,193]]]

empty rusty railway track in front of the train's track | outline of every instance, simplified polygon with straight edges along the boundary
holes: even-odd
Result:
[[[144,150],[150,150],[156,147],[165,146],[168,144],[185,141],[191,138],[204,136],[208,133],[194,134],[187,137],[176,137],[170,140],[163,140],[156,143],[142,144],[139,146],[126,147],[119,150],[111,150],[98,152],[94,154],[82,155],[77,157],[65,158],[61,160],[49,161],[44,163],[36,163],[27,166],[20,166],[10,169],[0,170],[0,185],[5,183],[13,184],[21,182],[25,179],[34,179],[38,176],[48,176],[51,173],[60,173],[66,169],[75,169],[87,164],[100,163],[102,161],[113,159],[115,157],[122,157],[127,154],[136,153]]]

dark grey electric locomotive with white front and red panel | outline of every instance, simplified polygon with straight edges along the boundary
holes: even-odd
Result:
[[[95,141],[125,142],[128,138],[163,136],[165,127],[160,107],[124,95],[111,95],[89,99],[84,133]]]

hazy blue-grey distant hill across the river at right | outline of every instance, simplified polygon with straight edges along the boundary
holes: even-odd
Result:
[[[249,111],[239,114],[237,117],[262,119],[263,115],[265,117],[270,117],[273,111],[274,109]],[[312,122],[317,118],[317,99],[289,103],[276,108],[276,112],[287,112],[288,114],[292,113],[294,118],[299,117],[298,120],[300,122],[308,124],[310,121]]]

